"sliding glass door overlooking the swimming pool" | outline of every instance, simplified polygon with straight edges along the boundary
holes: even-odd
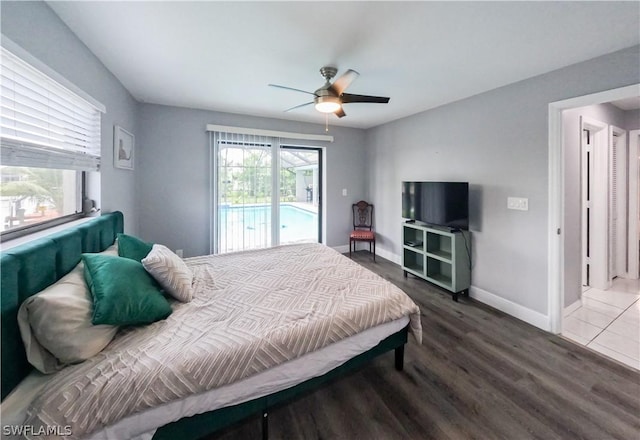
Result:
[[[320,241],[320,148],[223,133],[213,146],[214,252]]]

